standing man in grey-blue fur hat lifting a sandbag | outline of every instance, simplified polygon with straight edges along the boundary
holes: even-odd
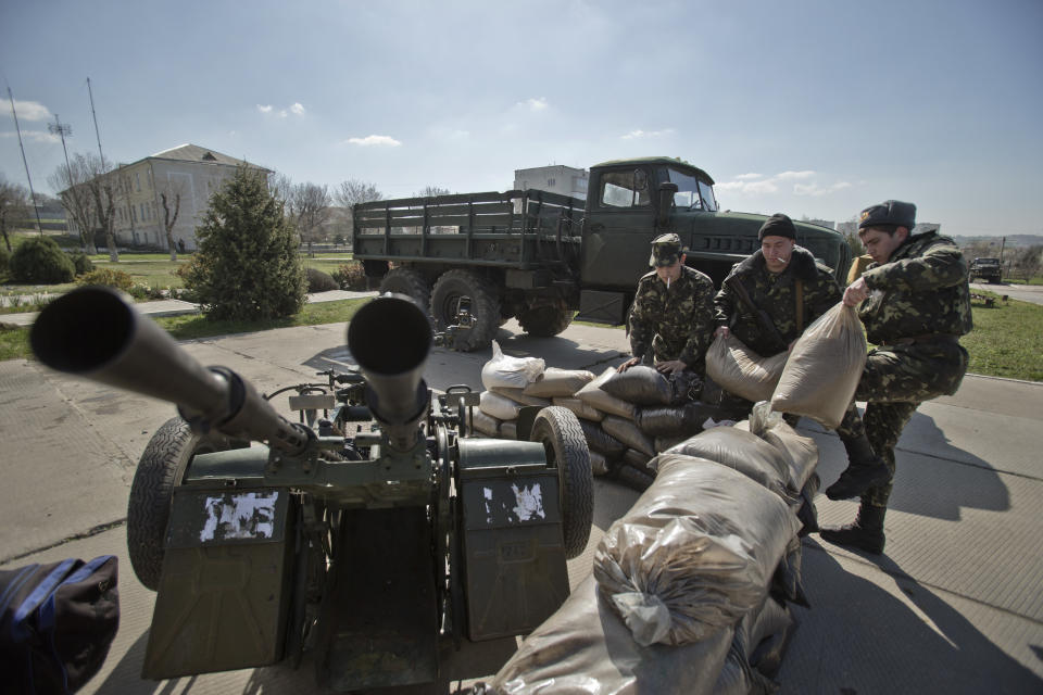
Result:
[[[853,523],[822,529],[821,538],[869,553],[883,552],[883,516],[894,477],[894,446],[923,401],[959,388],[967,351],[959,337],[971,329],[967,262],[952,239],[937,231],[913,235],[916,205],[889,200],[862,211],[858,237],[871,263],[844,292],[866,326],[869,352],[856,401],[837,432],[868,437],[880,465],[852,462],[826,490],[830,500],[860,496]]]

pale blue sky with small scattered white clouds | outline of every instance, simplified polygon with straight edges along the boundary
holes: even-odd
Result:
[[[1043,2],[4,0],[33,182],[185,142],[294,181],[507,190],[516,168],[680,156],[722,207],[1043,233]],[[25,182],[10,103],[0,174]]]

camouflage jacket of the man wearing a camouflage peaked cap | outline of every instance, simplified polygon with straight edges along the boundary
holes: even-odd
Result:
[[[714,282],[681,266],[681,277],[666,288],[655,271],[638,280],[627,319],[630,350],[644,362],[680,359],[702,370],[714,332]]]

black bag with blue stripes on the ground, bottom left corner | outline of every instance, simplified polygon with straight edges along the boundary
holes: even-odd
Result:
[[[0,571],[0,693],[75,693],[98,672],[120,626],[117,563]]]

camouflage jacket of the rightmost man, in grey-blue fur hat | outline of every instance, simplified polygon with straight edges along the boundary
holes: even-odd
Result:
[[[858,305],[869,342],[970,332],[967,262],[952,239],[937,231],[909,237],[887,263],[869,264],[862,277],[872,291]]]

